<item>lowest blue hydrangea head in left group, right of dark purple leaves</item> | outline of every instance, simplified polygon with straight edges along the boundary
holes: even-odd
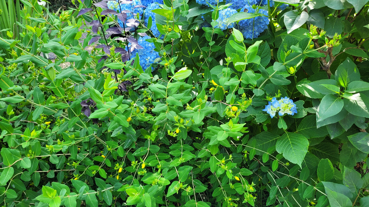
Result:
[[[138,38],[138,45],[142,46],[143,49],[135,49],[131,54],[131,57],[136,57],[136,54],[138,53],[139,63],[144,71],[151,65],[151,63],[154,63],[156,58],[159,57],[159,53],[154,50],[154,43],[146,41],[146,39],[150,38],[151,37],[149,36]]]

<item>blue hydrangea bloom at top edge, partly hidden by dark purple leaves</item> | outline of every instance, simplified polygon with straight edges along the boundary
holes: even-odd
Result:
[[[141,0],[132,0],[131,4],[120,4],[119,7],[119,3],[118,1],[108,1],[107,2],[108,8],[115,10],[115,11],[122,11],[122,10],[128,10],[131,11],[130,13],[127,13],[127,20],[129,19],[133,19],[135,18],[132,14],[132,10],[134,14],[139,14],[140,16],[142,16],[142,13],[144,13],[144,8],[142,7],[137,7],[137,8],[133,8],[136,5],[142,5]],[[120,27],[123,27],[123,22],[121,20],[118,19],[118,23],[120,25]],[[125,25],[125,27],[128,27],[127,24]]]

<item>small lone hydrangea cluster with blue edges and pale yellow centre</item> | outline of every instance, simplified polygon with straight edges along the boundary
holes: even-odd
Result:
[[[277,101],[276,98],[272,98],[272,100],[269,101],[269,104],[265,106],[263,111],[269,113],[270,117],[272,118],[276,115],[277,111],[279,116],[283,116],[284,114],[293,116],[295,113],[297,113],[297,107],[296,104],[293,103],[293,101],[288,97],[281,98],[279,101]]]

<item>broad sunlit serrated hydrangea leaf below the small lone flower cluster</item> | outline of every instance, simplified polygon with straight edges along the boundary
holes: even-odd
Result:
[[[309,141],[306,137],[292,132],[284,133],[276,143],[277,152],[283,153],[284,158],[300,167],[308,147]]]

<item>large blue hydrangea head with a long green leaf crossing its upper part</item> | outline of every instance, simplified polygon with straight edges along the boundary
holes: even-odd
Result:
[[[256,13],[256,9],[248,5],[241,8],[241,11],[247,11],[247,13]],[[259,9],[258,13],[268,16],[268,11]],[[268,28],[269,18],[265,16],[258,16],[251,19],[241,20],[238,23],[239,30],[246,39],[257,38],[266,28]]]

